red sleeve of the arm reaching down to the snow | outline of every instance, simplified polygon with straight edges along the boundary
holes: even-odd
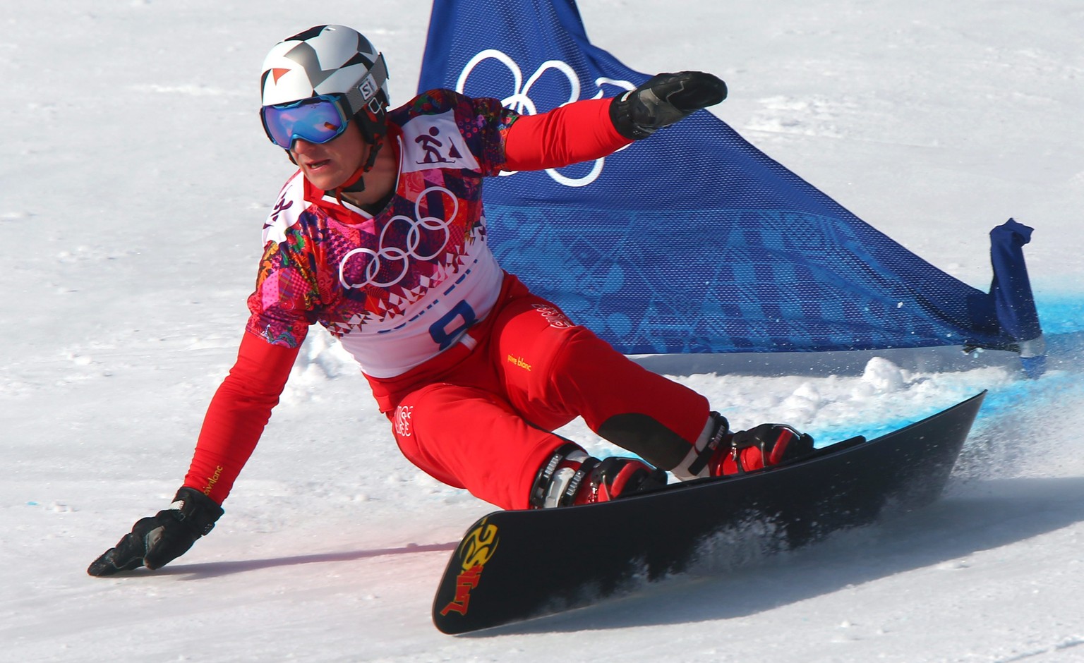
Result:
[[[184,485],[222,504],[279,403],[297,352],[245,334],[237,362],[207,407]]]

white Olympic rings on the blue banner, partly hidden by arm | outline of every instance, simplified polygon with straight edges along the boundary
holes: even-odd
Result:
[[[474,68],[480,63],[487,60],[495,60],[508,67],[508,72],[512,74],[514,90],[511,95],[505,96],[501,100],[501,103],[516,113],[521,115],[538,115],[538,107],[530,98],[531,87],[534,86],[542,78],[542,75],[546,72],[553,69],[559,74],[564,74],[565,78],[568,79],[569,93],[568,101],[562,103],[564,106],[570,104],[580,99],[580,77],[576,75],[576,70],[568,65],[568,63],[560,60],[547,60],[539,65],[539,68],[531,74],[530,78],[524,82],[524,73],[516,64],[516,61],[509,57],[503,51],[496,49],[486,49],[478,52],[474,57],[472,57],[466,65],[463,66],[463,72],[460,74],[459,80],[455,81],[455,91],[463,94],[466,89],[467,78]],[[628,80],[617,80],[614,78],[596,78],[595,86],[598,88],[598,92],[595,93],[591,99],[602,99],[603,98],[603,86],[611,84],[624,90],[633,90],[636,86],[632,84]],[[624,150],[622,147],[621,150]],[[547,168],[546,173],[553,178],[558,184],[564,184],[565,186],[586,186],[595,180],[603,172],[603,164],[606,161],[605,158],[595,159],[594,166],[591,168],[591,172],[583,176],[582,178],[569,178],[557,172],[555,168]],[[501,174],[515,174],[514,172],[502,172]]]

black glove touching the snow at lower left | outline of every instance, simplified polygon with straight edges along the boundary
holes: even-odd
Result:
[[[132,531],[95,559],[91,575],[113,575],[145,566],[158,569],[184,555],[192,544],[215,528],[222,507],[199,491],[182,487],[173,504],[150,518],[141,518]]]

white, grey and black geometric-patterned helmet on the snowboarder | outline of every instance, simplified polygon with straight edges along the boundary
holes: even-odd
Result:
[[[318,25],[274,46],[263,58],[260,104],[345,94],[351,114],[388,106],[388,70],[365,37],[344,25]]]

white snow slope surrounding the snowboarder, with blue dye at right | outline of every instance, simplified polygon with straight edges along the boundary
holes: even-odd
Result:
[[[256,117],[263,54],[310,25],[354,25],[386,51],[402,101],[428,4],[8,2],[0,660],[1084,660],[1084,5],[581,11],[633,68],[723,76],[723,119],[976,287],[991,227],[1036,229],[1027,255],[1055,349],[1040,380],[998,353],[643,360],[737,425],[784,419],[824,440],[990,389],[947,495],[802,550],[442,636],[436,581],[489,507],[402,459],[363,379],[313,334],[216,531],[160,572],[88,576],[168,504],[235,355],[262,220],[292,170]]]

